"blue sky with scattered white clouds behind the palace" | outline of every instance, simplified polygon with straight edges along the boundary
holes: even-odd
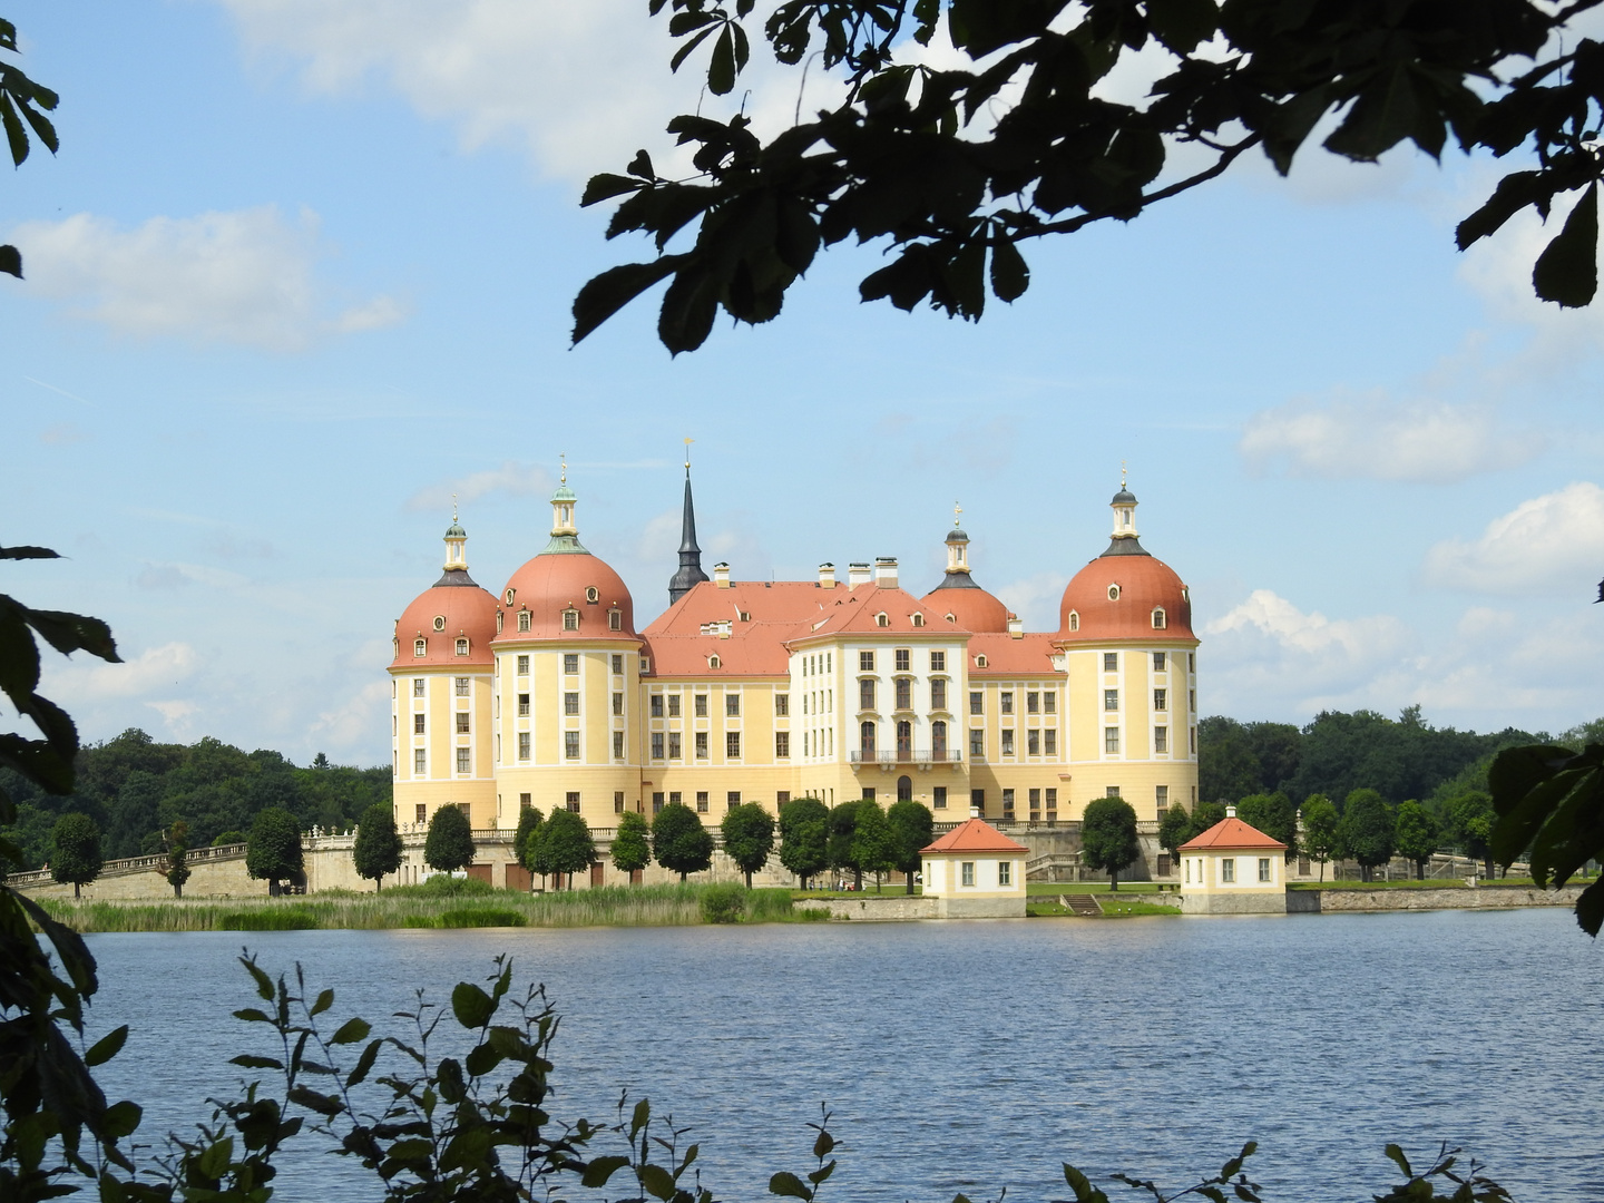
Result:
[[[1052,630],[1124,464],[1192,590],[1203,714],[1604,712],[1604,305],[1532,298],[1535,218],[1453,249],[1503,164],[1245,157],[1030,249],[978,324],[860,305],[884,249],[834,249],[778,321],[670,358],[654,300],[568,342],[581,284],[648,253],[584,180],[675,164],[667,119],[722,104],[669,72],[646,0],[0,14],[61,93],[59,154],[0,188],[27,271],[0,277],[0,542],[64,557],[0,565],[0,592],[111,622],[124,664],[47,666],[85,739],[383,762],[393,621],[452,496],[497,592],[566,452],[643,626],[685,438],[704,565],[738,579],[893,555],[922,593],[956,502],[975,579]],[[773,130],[799,82],[765,64],[744,99]]]

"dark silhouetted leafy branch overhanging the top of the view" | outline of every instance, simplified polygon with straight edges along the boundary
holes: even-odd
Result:
[[[1437,159],[1450,135],[1493,157],[1532,148],[1535,168],[1506,173],[1456,244],[1525,209],[1546,218],[1556,199],[1577,196],[1532,286],[1543,300],[1586,305],[1598,287],[1604,48],[1577,26],[1598,3],[792,0],[760,37],[781,64],[805,71],[821,58],[844,75],[845,98],[808,120],[799,101],[796,125],[768,143],[744,112],[675,117],[669,132],[698,176],[666,178],[642,151],[627,175],[592,178],[582,204],[619,200],[608,237],[648,234],[656,257],[585,284],[573,337],[669,281],[658,337],[675,354],[695,350],[720,308],[772,321],[820,247],[847,239],[889,242],[890,261],[860,286],[865,302],[909,311],[929,302],[977,321],[988,289],[1014,302],[1030,286],[1022,245],[1131,221],[1250,151],[1286,175],[1315,128],[1330,128],[1325,149],[1354,162],[1404,141]],[[701,48],[707,90],[735,93],[754,40],[751,0],[653,0],[662,8],[674,13],[669,32],[688,38],[674,66]],[[951,67],[898,61],[898,47],[929,45],[943,19]],[[1169,74],[1142,101],[1097,95],[1150,43],[1173,61],[1163,58]],[[1166,175],[1177,148],[1209,162]]]

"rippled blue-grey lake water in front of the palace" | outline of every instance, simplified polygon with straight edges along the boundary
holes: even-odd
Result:
[[[414,986],[446,1001],[512,953],[565,1015],[557,1113],[650,1094],[695,1128],[720,1198],[808,1169],[821,1100],[837,1200],[1062,1198],[1063,1160],[1177,1187],[1246,1139],[1286,1203],[1391,1185],[1387,1140],[1463,1145],[1524,1203],[1604,1198],[1604,948],[1564,909],[91,937],[95,1023],[135,1028],[103,1081],[146,1104],[146,1137],[229,1092],[231,1055],[269,1051],[229,1017],[250,1004],[242,942],[379,1030]],[[311,1150],[281,1179],[289,1200],[375,1195]]]

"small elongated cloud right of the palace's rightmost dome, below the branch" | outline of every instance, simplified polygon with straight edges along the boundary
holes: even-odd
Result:
[[[1381,393],[1264,409],[1237,444],[1261,472],[1434,484],[1524,464],[1541,448],[1538,435],[1503,427],[1489,406],[1397,403]]]

